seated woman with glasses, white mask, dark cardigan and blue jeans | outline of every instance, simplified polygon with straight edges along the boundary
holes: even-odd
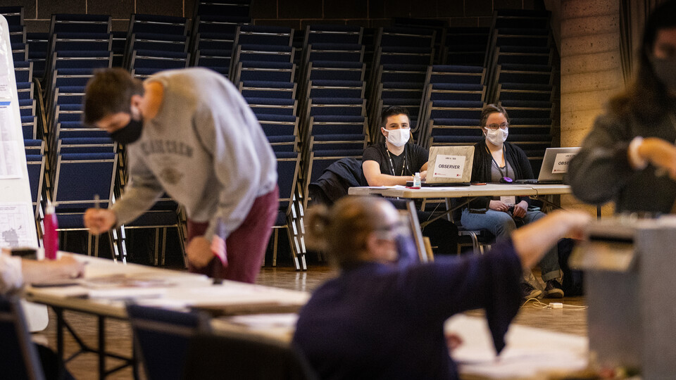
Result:
[[[481,113],[481,129],[485,139],[474,146],[472,182],[513,182],[515,179],[533,178],[533,170],[526,153],[518,146],[508,143],[509,116],[497,104],[485,106]],[[496,238],[508,236],[518,226],[544,217],[539,210],[529,210],[527,196],[480,197],[470,201],[463,210],[461,223],[466,229],[487,229]],[[558,250],[553,246],[539,262],[542,281],[545,283],[544,296],[563,298],[563,289],[558,278]],[[530,269],[525,268],[522,280],[523,298],[537,298],[542,291],[537,289]]]

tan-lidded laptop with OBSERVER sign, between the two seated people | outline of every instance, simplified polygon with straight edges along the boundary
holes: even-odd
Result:
[[[432,146],[423,187],[470,186],[474,146]],[[413,185],[407,182],[406,186]]]

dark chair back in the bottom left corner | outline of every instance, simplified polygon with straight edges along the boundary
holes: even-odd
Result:
[[[3,379],[44,379],[18,298],[0,296],[0,368]]]

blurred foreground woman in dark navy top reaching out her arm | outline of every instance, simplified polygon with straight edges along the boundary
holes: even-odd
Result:
[[[579,237],[589,216],[556,211],[517,229],[486,255],[397,265],[398,212],[381,198],[348,196],[308,213],[306,237],[339,277],[300,312],[294,344],[322,379],[457,379],[444,321],[484,308],[498,352],[520,307],[521,268],[558,239]],[[400,250],[401,251],[401,250]],[[451,339],[452,340],[452,339]]]

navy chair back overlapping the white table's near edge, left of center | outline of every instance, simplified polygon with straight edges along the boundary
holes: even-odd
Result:
[[[127,316],[148,379],[180,379],[190,337],[206,329],[204,315],[130,304]]]

